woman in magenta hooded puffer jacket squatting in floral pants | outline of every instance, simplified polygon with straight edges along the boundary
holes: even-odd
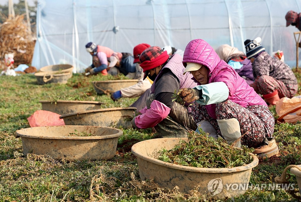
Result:
[[[195,101],[192,115],[199,128],[237,147],[268,144],[275,120],[267,104],[206,41],[188,43],[183,65],[183,74],[192,74],[198,86],[182,89],[180,95]]]

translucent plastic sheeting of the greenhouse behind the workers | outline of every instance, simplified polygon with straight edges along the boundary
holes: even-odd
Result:
[[[83,72],[92,63],[90,41],[132,53],[140,43],[185,50],[202,38],[213,48],[229,44],[245,53],[244,41],[261,37],[269,54],[282,50],[295,67],[299,30],[286,27],[285,14],[300,8],[300,0],[38,0],[32,65],[72,64]]]

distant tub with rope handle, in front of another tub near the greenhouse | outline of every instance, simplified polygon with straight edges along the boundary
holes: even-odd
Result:
[[[43,85],[46,83],[61,83],[66,84],[68,79],[72,76],[72,73],[62,73],[62,74],[55,74],[51,71],[47,72],[37,72],[34,74],[37,79],[37,83],[39,85]]]

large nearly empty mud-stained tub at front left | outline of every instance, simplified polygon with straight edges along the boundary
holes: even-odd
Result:
[[[93,136],[68,136],[69,133],[85,132]],[[123,131],[98,126],[62,125],[24,128],[16,131],[21,137],[23,153],[49,155],[54,159],[74,160],[111,159],[116,153],[118,137]]]

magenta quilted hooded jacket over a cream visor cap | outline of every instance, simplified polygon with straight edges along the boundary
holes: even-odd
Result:
[[[221,60],[214,49],[203,39],[194,39],[188,43],[183,56],[183,65],[185,67],[187,62],[198,63],[208,67],[208,82],[224,82],[229,89],[228,100],[242,107],[253,105],[267,106],[254,89],[230,65]],[[194,81],[197,82],[196,80]],[[216,119],[215,105],[206,105],[206,109],[209,115]]]

